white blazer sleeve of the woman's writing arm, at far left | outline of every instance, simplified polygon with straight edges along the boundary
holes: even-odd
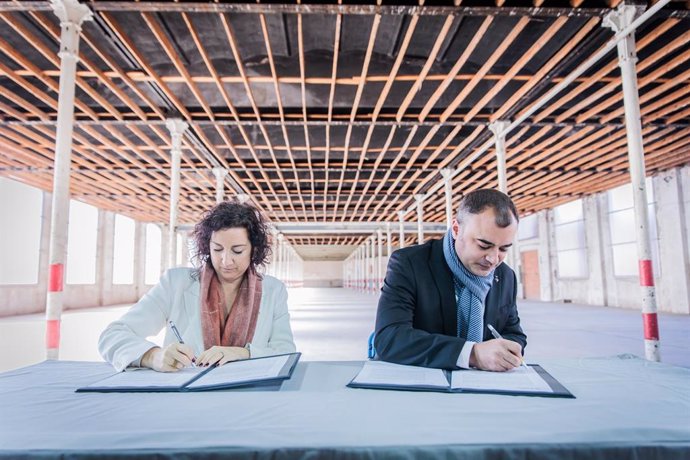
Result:
[[[103,359],[119,372],[137,363],[151,348],[157,346],[146,340],[165,327],[172,303],[170,271],[149,290],[122,318],[105,328],[98,340]]]

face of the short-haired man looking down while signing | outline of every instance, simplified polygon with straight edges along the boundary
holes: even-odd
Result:
[[[462,224],[454,220],[451,228],[460,262],[473,274],[486,276],[506,258],[517,222],[501,228],[496,225],[494,210],[486,208],[479,214],[467,214]]]

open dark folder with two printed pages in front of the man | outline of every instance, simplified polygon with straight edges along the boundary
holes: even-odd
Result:
[[[446,371],[367,361],[348,386],[381,390],[575,397],[536,364],[516,367],[507,372],[488,372],[474,369]]]

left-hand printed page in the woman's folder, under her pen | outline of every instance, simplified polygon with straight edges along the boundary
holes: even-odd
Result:
[[[131,368],[86,388],[178,388],[204,370],[201,367],[185,367],[177,372],[156,372],[148,368]]]

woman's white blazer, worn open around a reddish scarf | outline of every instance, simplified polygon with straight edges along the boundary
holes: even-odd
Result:
[[[192,276],[193,273],[194,269],[191,268],[166,271],[157,285],[122,318],[112,322],[98,341],[98,350],[103,359],[118,371],[129,365],[138,366],[144,353],[157,346],[148,337],[156,336],[165,328],[163,346],[177,341],[167,327],[169,320],[175,323],[185,344],[191,346],[197,356],[203,352],[200,284]],[[252,358],[295,351],[287,290],[282,282],[272,276],[263,276],[259,317],[252,342],[247,346]]]

